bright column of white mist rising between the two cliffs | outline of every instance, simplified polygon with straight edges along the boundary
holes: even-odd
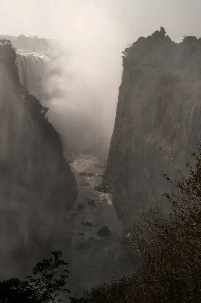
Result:
[[[128,39],[126,28],[132,23],[130,18],[123,24],[127,9],[113,5],[90,1],[81,6],[65,27],[65,40],[52,45],[49,52],[59,74],[51,71],[45,86],[48,117],[69,150],[93,148],[101,138],[104,154],[109,147],[122,73],[121,51]]]

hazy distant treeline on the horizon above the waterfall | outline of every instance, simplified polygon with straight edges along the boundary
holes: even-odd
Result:
[[[0,35],[0,40],[11,41],[13,47],[16,49],[23,49],[26,51],[42,51],[46,52],[49,49],[48,40],[44,38],[38,38],[37,36],[20,35],[18,37],[10,35]]]

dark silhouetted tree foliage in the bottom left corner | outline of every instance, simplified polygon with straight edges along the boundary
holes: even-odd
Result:
[[[70,293],[64,288],[68,270],[61,251],[53,251],[53,258],[38,262],[33,268],[33,276],[27,276],[25,281],[17,278],[0,281],[1,303],[47,303],[60,302],[57,299],[60,292]]]

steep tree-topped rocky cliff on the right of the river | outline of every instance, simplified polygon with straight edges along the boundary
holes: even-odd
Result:
[[[129,227],[135,213],[169,190],[196,150],[201,133],[201,39],[179,44],[165,30],[140,37],[123,52],[123,77],[104,179]],[[191,159],[192,160],[192,159]]]

